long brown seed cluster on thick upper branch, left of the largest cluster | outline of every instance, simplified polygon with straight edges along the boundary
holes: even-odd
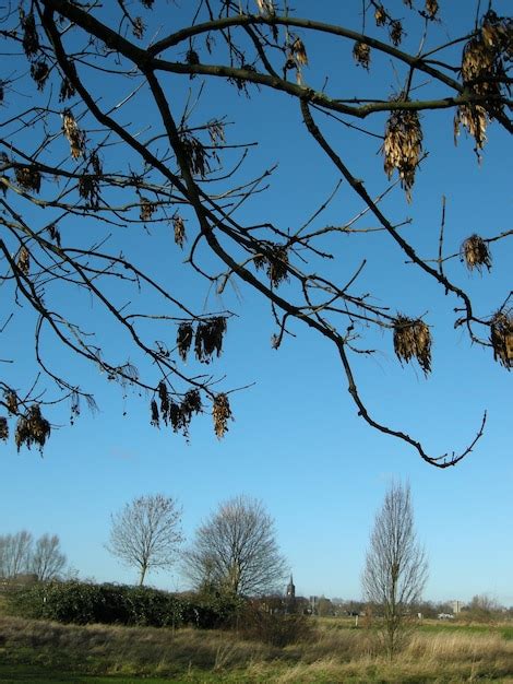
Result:
[[[415,172],[422,154],[422,129],[418,113],[414,109],[395,109],[386,122],[384,143],[384,170],[392,178],[394,168],[401,178],[406,199],[411,201]]]

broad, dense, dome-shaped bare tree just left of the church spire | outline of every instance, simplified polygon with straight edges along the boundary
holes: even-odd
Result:
[[[263,504],[238,496],[220,504],[184,554],[184,573],[196,588],[238,595],[272,593],[285,580],[274,521]]]

